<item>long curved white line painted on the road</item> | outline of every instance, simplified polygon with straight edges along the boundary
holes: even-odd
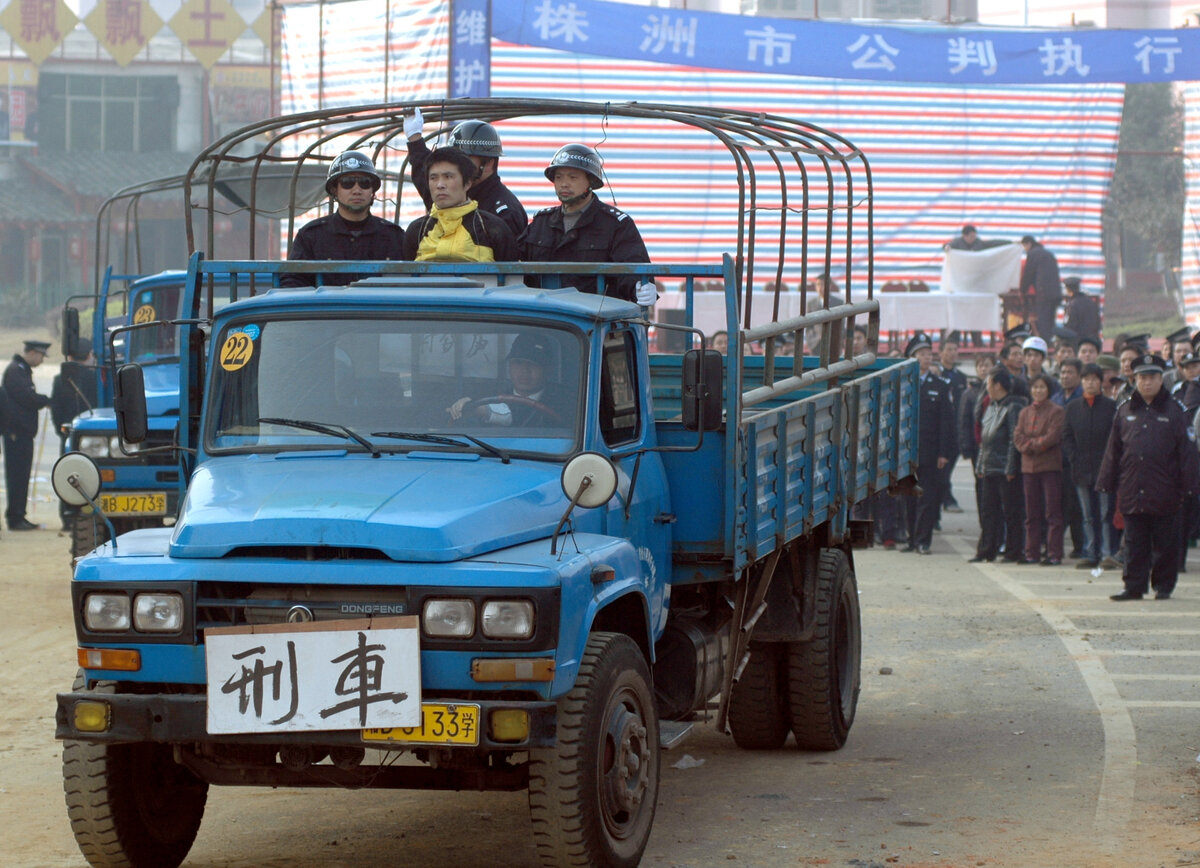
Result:
[[[974,555],[974,546],[966,539],[943,537],[964,557]],[[1096,816],[1092,827],[1097,844],[1117,852],[1126,839],[1129,814],[1133,807],[1135,772],[1138,767],[1138,740],[1129,716],[1129,704],[1121,699],[1116,683],[1104,668],[1103,657],[1111,652],[1098,652],[1087,640],[1087,630],[1074,622],[1046,598],[1030,591],[1020,580],[1010,577],[1002,565],[992,563],[971,564],[1016,599],[1033,609],[1058,636],[1070,659],[1079,668],[1092,701],[1100,713],[1104,730],[1104,768],[1100,774],[1100,792],[1096,800]],[[1163,652],[1163,654],[1175,652]],[[1200,654],[1200,652],[1195,652]]]

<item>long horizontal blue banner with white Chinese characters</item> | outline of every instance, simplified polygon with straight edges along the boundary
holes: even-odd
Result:
[[[492,0],[492,36],[515,44],[720,70],[971,85],[1200,80],[1200,28],[905,26],[602,0]]]

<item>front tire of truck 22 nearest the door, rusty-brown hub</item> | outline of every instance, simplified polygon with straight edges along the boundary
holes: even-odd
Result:
[[[659,796],[659,719],[632,639],[588,637],[575,687],[558,701],[554,748],[530,752],[529,814],[545,866],[632,868]]]

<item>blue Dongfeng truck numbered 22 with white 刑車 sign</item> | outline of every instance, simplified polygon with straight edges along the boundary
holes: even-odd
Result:
[[[550,109],[692,128],[719,116],[722,137],[766,134],[762,150],[788,160],[803,146],[865,164],[755,113],[455,108]],[[703,264],[197,252],[179,325],[179,519],[106,543],[72,582],[80,672],[56,735],[89,862],[179,864],[210,786],[259,785],[526,790],[545,864],[635,866],[660,753],[714,699],[743,748],[840,748],[860,684],[853,551],[870,541],[852,510],[912,479],[916,366],[875,357],[869,280],[862,300],[751,324],[751,237]],[[242,298],[298,270],[366,276]],[[688,298],[718,283],[728,355],[686,322],[577,292],[572,273],[674,280]],[[565,286],[527,285],[551,274]],[[209,319],[215,275],[239,300]],[[817,327],[820,355],[776,354],[776,337],[804,346]],[[664,352],[667,334],[680,340]],[[760,341],[763,355],[744,352]],[[539,388],[518,389],[528,377]],[[136,443],[136,363],[116,393]],[[102,496],[79,455],[54,484]]]

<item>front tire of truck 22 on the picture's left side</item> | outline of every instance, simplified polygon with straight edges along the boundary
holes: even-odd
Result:
[[[65,741],[62,789],[76,843],[96,868],[175,868],[196,840],[209,792],[169,744],[149,742]]]

